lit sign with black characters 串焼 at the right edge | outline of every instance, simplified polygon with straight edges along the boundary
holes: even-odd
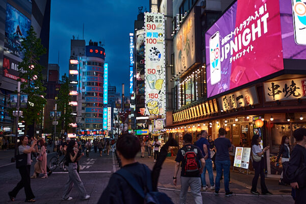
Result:
[[[306,97],[306,78],[265,82],[266,101]]]

